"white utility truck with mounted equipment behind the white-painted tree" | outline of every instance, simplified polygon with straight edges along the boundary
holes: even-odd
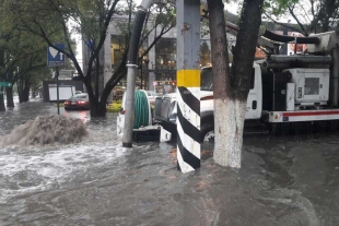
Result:
[[[266,31],[271,50],[256,61],[250,74],[245,122],[255,120],[270,132],[301,124],[339,126],[339,43],[335,32],[311,37],[290,37]],[[304,44],[303,53],[277,55],[279,43]],[[269,48],[266,48],[269,49]],[[201,142],[213,141],[213,73],[201,69],[200,134]],[[176,128],[176,96],[155,100],[154,121],[167,130]],[[278,128],[278,129],[277,129]]]

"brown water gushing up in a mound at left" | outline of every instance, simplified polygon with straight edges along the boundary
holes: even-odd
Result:
[[[0,136],[0,147],[7,145],[37,145],[80,142],[87,135],[82,120],[65,116],[38,116]]]

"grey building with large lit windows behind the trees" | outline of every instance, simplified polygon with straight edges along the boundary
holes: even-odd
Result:
[[[229,15],[233,23],[236,23],[237,17],[235,15]],[[114,70],[119,66],[121,55],[125,51],[126,40],[124,38],[124,20],[126,16],[115,17],[108,26],[107,37],[104,44],[104,48],[101,51],[101,62],[103,71],[103,80],[101,81],[101,91],[104,84],[107,83]],[[229,21],[230,21],[229,20]],[[148,28],[152,29],[154,22],[149,22]],[[152,44],[156,35],[160,33],[161,27],[152,29],[148,39],[143,43],[141,51],[147,49]],[[176,85],[176,27],[168,31],[156,45],[149,51],[148,56],[142,60],[139,67],[139,74],[137,76],[136,84],[138,87],[144,90],[155,91],[157,93],[174,92]],[[229,35],[229,45],[235,45],[235,36]],[[90,57],[89,43],[83,43],[83,69],[87,70],[85,64]],[[230,48],[231,49],[231,48]],[[211,45],[210,37],[206,35],[201,37],[200,44],[200,66],[211,66]],[[260,53],[260,52],[259,52]],[[232,61],[232,56],[230,57]],[[113,92],[114,95],[121,95],[126,88],[126,79],[116,86]],[[113,96],[108,102],[112,102]]]

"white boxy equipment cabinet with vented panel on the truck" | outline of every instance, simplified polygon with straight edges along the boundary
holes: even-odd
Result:
[[[326,105],[329,96],[329,69],[287,69],[295,84],[295,105]]]

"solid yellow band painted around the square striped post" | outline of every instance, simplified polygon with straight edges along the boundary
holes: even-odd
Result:
[[[178,70],[176,80],[178,87],[200,87],[200,70]]]

